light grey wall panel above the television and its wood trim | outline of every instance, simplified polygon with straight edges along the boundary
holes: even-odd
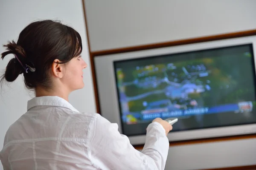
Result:
[[[91,51],[256,28],[256,0],[85,0]]]

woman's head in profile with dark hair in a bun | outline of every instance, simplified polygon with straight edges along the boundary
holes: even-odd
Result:
[[[27,88],[74,91],[84,86],[82,42],[77,31],[52,20],[29,24],[17,43],[9,42],[1,58],[13,54],[2,80],[14,81],[23,74]]]

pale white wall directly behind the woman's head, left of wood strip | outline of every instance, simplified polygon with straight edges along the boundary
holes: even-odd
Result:
[[[82,57],[88,63],[84,70],[84,88],[75,91],[70,96],[70,102],[79,111],[96,112],[93,94],[93,83],[88,57],[87,37],[84,23],[84,13],[81,0],[0,0],[0,53],[4,51],[3,44],[8,40],[17,40],[22,29],[30,22],[41,19],[63,20],[75,28],[83,42]],[[9,59],[0,60],[0,70],[5,69]],[[10,88],[0,89],[0,150],[6,130],[23,113],[26,112],[27,100],[33,93],[24,90],[22,77],[13,82]],[[2,169],[0,164],[0,170]]]

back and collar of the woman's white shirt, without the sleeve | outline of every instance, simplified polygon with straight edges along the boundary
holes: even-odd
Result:
[[[12,170],[94,170],[87,150],[93,130],[88,127],[98,116],[79,113],[56,96],[34,98],[6,133],[2,164]]]

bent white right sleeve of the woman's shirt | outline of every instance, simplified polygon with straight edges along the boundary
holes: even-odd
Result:
[[[162,125],[147,128],[142,152],[136,150],[118,125],[98,116],[91,131],[89,155],[93,166],[103,170],[164,170],[169,140]]]

